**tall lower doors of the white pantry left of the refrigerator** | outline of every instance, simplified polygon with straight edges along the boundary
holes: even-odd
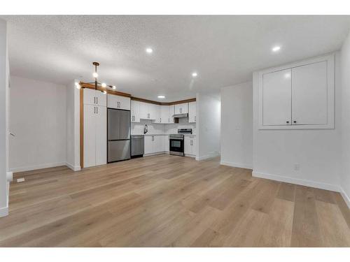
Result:
[[[83,167],[107,163],[107,108],[84,105]]]

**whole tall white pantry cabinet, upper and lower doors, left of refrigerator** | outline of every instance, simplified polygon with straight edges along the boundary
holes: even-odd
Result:
[[[107,163],[106,94],[83,89],[83,165],[84,168]]]

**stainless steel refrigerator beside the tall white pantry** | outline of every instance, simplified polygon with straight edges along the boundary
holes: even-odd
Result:
[[[130,159],[130,111],[108,108],[108,162]]]

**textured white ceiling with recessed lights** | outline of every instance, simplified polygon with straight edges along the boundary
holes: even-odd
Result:
[[[174,101],[251,80],[260,68],[339,50],[349,16],[3,16],[13,75],[99,80]],[[281,52],[272,54],[272,45]],[[153,48],[146,54],[145,48]],[[191,73],[198,72],[193,80]]]

